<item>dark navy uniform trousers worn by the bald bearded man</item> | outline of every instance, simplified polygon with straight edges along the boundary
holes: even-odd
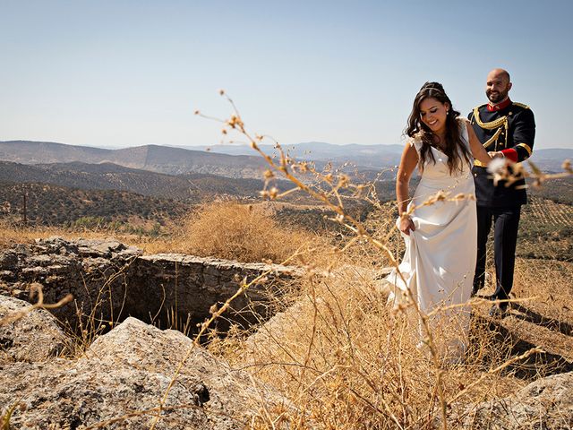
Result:
[[[513,287],[516,264],[517,228],[521,206],[492,208],[477,206],[477,262],[475,263],[474,294],[485,283],[487,238],[492,229],[496,288],[494,299],[506,300]]]

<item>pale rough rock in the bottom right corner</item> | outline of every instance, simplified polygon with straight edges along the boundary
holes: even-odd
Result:
[[[511,397],[466,409],[461,428],[489,430],[573,427],[573,373],[553,374]]]

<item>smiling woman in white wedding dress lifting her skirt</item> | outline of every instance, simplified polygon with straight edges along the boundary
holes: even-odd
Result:
[[[411,297],[423,314],[435,311],[429,321],[432,332],[440,329],[434,338],[440,337],[446,346],[441,355],[460,357],[469,329],[464,304],[472,292],[477,254],[472,165],[474,159],[487,165],[491,158],[438,82],[426,82],[416,94],[406,135],[396,182],[397,225],[406,252],[399,271],[387,278],[395,286],[390,300]],[[408,203],[416,167],[420,183]],[[444,194],[446,199],[428,201]],[[453,333],[452,339],[444,340],[444,333]]]

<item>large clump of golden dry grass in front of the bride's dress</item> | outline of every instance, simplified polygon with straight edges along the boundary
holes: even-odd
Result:
[[[523,385],[509,374],[487,373],[509,357],[483,327],[474,328],[464,366],[434,366],[417,346],[413,309],[392,312],[375,278],[374,271],[346,266],[309,279],[296,305],[250,338],[211,344],[290,400],[291,408],[261,413],[253,428],[434,428],[439,373],[450,417]]]

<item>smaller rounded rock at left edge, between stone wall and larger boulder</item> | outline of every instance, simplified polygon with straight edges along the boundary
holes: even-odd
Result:
[[[27,302],[0,295],[0,321],[27,307]],[[62,353],[69,342],[52,314],[34,309],[13,323],[0,325],[0,363],[45,361]]]

